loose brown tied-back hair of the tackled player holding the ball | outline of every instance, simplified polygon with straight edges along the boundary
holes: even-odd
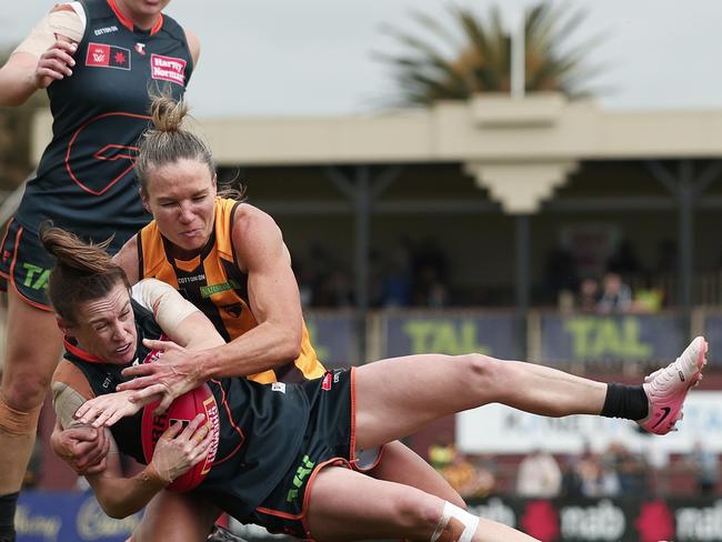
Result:
[[[126,272],[106,252],[112,238],[98,244],[86,243],[66,230],[44,223],[40,240],[56,259],[48,297],[56,313],[69,323],[78,323],[79,303],[106,297],[119,282],[130,289]]]

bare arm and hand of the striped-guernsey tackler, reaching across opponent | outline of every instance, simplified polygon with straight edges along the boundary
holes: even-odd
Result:
[[[162,387],[167,395],[159,408],[162,411],[172,399],[211,378],[247,377],[284,365],[299,357],[301,302],[278,225],[264,212],[243,205],[237,212],[232,235],[239,258],[237,263],[248,274],[249,303],[258,325],[228,344],[221,341],[219,345],[202,350],[146,341],[148,347],[163,354],[154,363],[123,370],[126,377],[136,379],[123,382],[118,390],[143,390],[136,395],[141,399],[146,393],[161,392]],[[201,319],[200,315],[193,318]],[[208,324],[210,322],[204,323]],[[213,333],[213,340],[218,338],[218,333]]]

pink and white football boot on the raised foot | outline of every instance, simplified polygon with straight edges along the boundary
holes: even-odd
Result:
[[[702,379],[702,368],[706,363],[706,341],[695,338],[675,361],[664,369],[654,371],[642,384],[650,411],[638,423],[646,431],[666,434],[682,419],[684,398],[690,388]]]

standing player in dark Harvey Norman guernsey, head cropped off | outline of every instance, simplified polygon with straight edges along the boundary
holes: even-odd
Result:
[[[46,299],[52,265],[38,228],[51,219],[83,239],[114,235],[116,251],[150,219],[133,172],[137,141],[148,126],[148,91],[163,87],[180,98],[200,53],[198,39],[162,13],[169,2],[58,4],[0,69],[0,106],[19,106],[47,89],[53,114],[52,141],[0,247],[0,275],[9,283],[0,542],[14,540],[18,492],[62,347]]]

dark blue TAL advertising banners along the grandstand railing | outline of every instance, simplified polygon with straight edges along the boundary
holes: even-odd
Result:
[[[0,309],[0,352],[7,310]],[[692,318],[654,314],[585,314],[532,310],[387,310],[367,319],[367,360],[359,359],[357,320],[350,310],[307,310],[319,358],[349,367],[414,353],[481,352],[573,369],[574,372],[644,372],[676,358],[692,337],[710,343],[710,368],[722,368],[722,308],[699,307]],[[4,358],[4,355],[2,357]]]

